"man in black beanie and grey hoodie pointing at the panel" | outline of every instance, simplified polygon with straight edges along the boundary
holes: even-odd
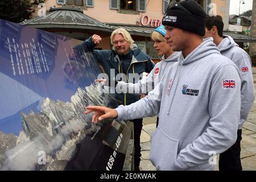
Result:
[[[236,142],[241,78],[236,65],[203,41],[206,13],[196,1],[172,1],[163,16],[166,39],[182,51],[177,63],[141,100],[115,109],[86,107],[92,122],[117,121],[159,113],[151,135],[150,160],[158,170],[213,170],[213,155]]]

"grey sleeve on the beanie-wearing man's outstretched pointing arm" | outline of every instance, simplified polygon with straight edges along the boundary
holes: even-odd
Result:
[[[148,95],[133,104],[118,106],[117,121],[131,120],[136,118],[152,117],[159,113],[160,102],[162,97],[163,84],[159,82],[155,89],[148,93]]]

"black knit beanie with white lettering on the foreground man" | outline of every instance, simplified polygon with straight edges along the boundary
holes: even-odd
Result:
[[[195,0],[171,3],[172,6],[163,16],[162,24],[204,36],[207,14],[202,7]]]

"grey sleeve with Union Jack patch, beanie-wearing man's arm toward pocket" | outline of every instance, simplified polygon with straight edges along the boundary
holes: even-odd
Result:
[[[223,80],[235,80],[236,88],[224,88]],[[236,142],[240,121],[240,89],[241,78],[235,65],[225,65],[216,72],[209,91],[209,126],[179,152],[176,159],[179,169],[208,162],[211,154],[220,154]]]

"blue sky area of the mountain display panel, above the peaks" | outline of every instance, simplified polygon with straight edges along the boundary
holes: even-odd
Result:
[[[0,131],[19,135],[21,114],[40,111],[44,98],[70,102],[101,73],[80,40],[0,20]]]

